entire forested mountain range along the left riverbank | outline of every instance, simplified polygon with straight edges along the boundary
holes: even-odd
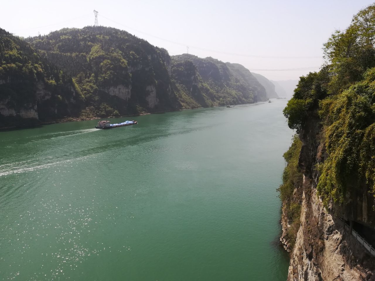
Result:
[[[0,63],[0,118],[7,124],[267,100],[239,64],[187,54],[172,60],[165,49],[110,27],[25,40],[1,30]]]

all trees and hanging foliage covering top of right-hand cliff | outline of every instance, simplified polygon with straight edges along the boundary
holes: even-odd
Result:
[[[310,111],[323,124],[326,159],[318,193],[341,204],[368,184],[375,194],[375,6],[354,15],[350,26],[324,44],[325,66],[301,77],[284,109],[288,124],[303,129]]]

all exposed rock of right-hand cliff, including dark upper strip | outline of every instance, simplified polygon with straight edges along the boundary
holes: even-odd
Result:
[[[285,205],[283,208],[281,242],[286,250],[291,251],[288,280],[375,280],[375,256],[351,235],[353,230],[357,230],[371,244],[374,220],[369,218],[373,218],[374,209],[369,208],[369,204],[373,206],[373,196],[365,193],[365,200],[363,194],[354,197],[357,200],[349,203],[351,206],[323,206],[317,195],[319,171],[316,164],[325,157],[318,121],[317,116],[310,116],[300,133],[302,149],[299,166],[303,181],[293,192],[293,200],[301,204],[300,225],[293,249],[291,241],[286,239],[291,225]],[[347,214],[343,210],[354,212]],[[365,224],[371,229],[364,227]]]

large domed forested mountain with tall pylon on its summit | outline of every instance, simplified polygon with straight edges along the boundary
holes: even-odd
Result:
[[[180,108],[169,77],[168,52],[126,31],[63,28],[27,41],[74,78],[85,97],[84,117]]]

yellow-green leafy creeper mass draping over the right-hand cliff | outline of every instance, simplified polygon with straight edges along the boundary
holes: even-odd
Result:
[[[371,69],[369,73],[373,73]],[[368,75],[365,75],[365,80]],[[357,82],[322,103],[328,157],[321,165],[318,191],[324,203],[343,203],[349,187],[366,178],[375,193],[375,81]]]

